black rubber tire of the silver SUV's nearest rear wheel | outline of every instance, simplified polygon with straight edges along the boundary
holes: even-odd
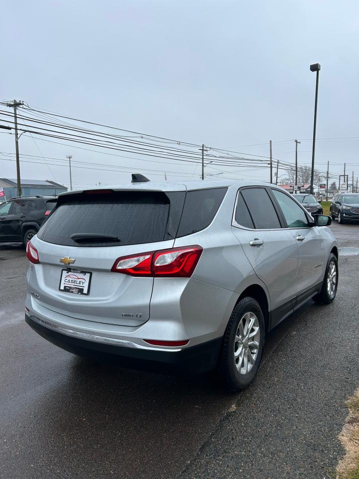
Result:
[[[256,339],[256,342],[258,343],[258,348],[252,348],[252,350],[249,350],[250,342],[249,344],[248,342],[245,343],[245,341],[248,341],[248,339],[244,340],[244,342],[241,343],[240,347],[238,346],[238,341],[236,341],[236,333],[239,327],[239,323],[241,322],[242,325],[246,325],[246,323],[244,323],[244,316],[246,315],[246,313],[252,313],[252,317],[254,314],[254,316],[257,318],[255,324],[258,323],[259,338],[257,336],[258,333],[256,333],[255,337],[251,338],[252,340]],[[251,334],[253,334],[253,332],[256,330],[257,326],[251,329]],[[234,308],[227,324],[227,328],[223,336],[223,347],[219,360],[219,372],[221,378],[224,382],[225,387],[228,388],[230,391],[240,391],[241,389],[245,389],[253,381],[262,359],[264,335],[264,317],[260,305],[252,297],[245,297],[241,299]],[[239,358],[241,355],[239,354],[238,358],[235,358],[236,346],[237,351],[243,350],[243,359],[241,359],[240,364]],[[240,365],[243,364],[243,367],[241,368],[243,371],[246,369],[244,356],[245,351],[248,350],[252,353],[252,358],[252,355],[255,355],[255,351],[257,351],[254,363],[253,365],[250,365],[250,370],[247,373],[240,373]],[[247,357],[249,356],[247,355]],[[236,363],[237,359],[238,362]]]

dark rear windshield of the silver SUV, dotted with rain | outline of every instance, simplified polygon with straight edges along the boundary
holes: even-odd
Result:
[[[184,192],[182,197],[183,204]],[[81,194],[61,201],[37,234],[41,240],[68,246],[119,246],[168,239],[171,200],[162,192]],[[73,234],[108,235],[118,240],[75,241],[70,238]]]

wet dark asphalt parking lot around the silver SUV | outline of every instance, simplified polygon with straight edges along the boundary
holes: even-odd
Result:
[[[331,227],[359,247],[359,225]],[[359,255],[337,298],[272,331],[254,383],[95,364],[24,322],[24,249],[0,245],[0,478],[333,477],[346,398],[359,386]]]

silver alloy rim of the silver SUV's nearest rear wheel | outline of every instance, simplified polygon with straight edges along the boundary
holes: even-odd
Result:
[[[259,321],[249,311],[241,317],[234,339],[234,362],[240,374],[247,374],[252,369],[258,356],[259,341]]]

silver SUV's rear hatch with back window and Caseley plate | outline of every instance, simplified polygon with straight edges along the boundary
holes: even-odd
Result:
[[[37,301],[89,321],[131,326],[147,321],[154,278],[111,268],[121,256],[173,247],[184,197],[185,191],[134,190],[60,196],[32,240],[40,264],[29,283]]]

